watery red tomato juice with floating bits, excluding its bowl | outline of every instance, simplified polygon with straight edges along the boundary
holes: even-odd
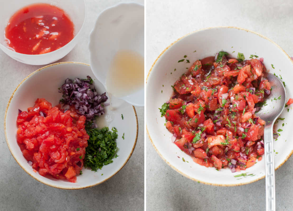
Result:
[[[22,54],[45,54],[61,48],[74,37],[74,25],[59,7],[26,6],[9,19],[5,28],[8,47]]]

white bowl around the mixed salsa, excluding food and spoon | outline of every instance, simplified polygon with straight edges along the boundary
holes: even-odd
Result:
[[[293,84],[291,83],[293,61],[277,44],[263,35],[242,28],[215,27],[197,30],[181,37],[167,47],[149,71],[146,96],[147,133],[162,159],[180,174],[210,185],[237,186],[265,177],[264,157],[246,171],[235,173],[231,173],[230,169],[216,171],[215,168],[200,166],[171,142],[172,134],[164,126],[165,118],[161,117],[158,109],[170,99],[173,91],[171,85],[174,85],[175,81],[186,72],[186,68],[189,68],[195,60],[214,56],[221,50],[236,58],[238,52],[243,53],[246,59],[249,59],[251,54],[263,57],[266,68],[271,73],[275,72],[282,76],[286,84],[287,97],[293,97]],[[178,60],[183,59],[184,55],[187,55],[186,59],[189,59],[190,63],[186,63],[186,60],[178,63]],[[173,71],[175,68],[176,71]],[[170,74],[171,72],[172,74]],[[285,126],[282,126],[284,121],[279,121],[277,124],[277,128],[281,128],[283,131],[280,132],[278,140],[274,141],[274,149],[277,152],[274,156],[275,169],[284,164],[293,150],[293,143],[290,140],[293,123],[292,105],[288,108],[289,112],[285,108],[280,115],[280,117],[285,117]],[[182,157],[186,162],[183,162]],[[234,177],[246,172],[255,176]]]

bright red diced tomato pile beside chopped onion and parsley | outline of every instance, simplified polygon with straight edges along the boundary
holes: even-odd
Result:
[[[44,98],[17,117],[17,141],[40,175],[76,182],[83,167],[88,134],[85,116],[62,112]],[[76,118],[76,119],[75,119]]]

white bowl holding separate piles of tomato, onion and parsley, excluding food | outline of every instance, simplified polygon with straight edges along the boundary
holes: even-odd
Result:
[[[109,124],[109,129],[114,126],[118,130],[116,142],[118,147],[117,155],[119,156],[113,159],[113,163],[104,166],[97,172],[83,168],[83,174],[77,176],[76,183],[54,179],[52,176],[44,177],[38,172],[35,173],[33,171],[33,168],[23,157],[16,141],[16,118],[18,116],[18,109],[26,110],[28,107],[34,105],[36,98],[42,97],[54,106],[59,103],[62,97],[62,94],[58,92],[58,88],[64,83],[67,77],[86,78],[86,76],[93,78],[93,84],[98,93],[105,92],[103,85],[93,76],[88,64],[61,62],[45,66],[31,73],[17,86],[8,102],[4,119],[4,131],[9,150],[23,170],[46,185],[63,189],[80,189],[98,185],[115,175],[126,164],[136,145],[138,132],[136,111],[133,106],[124,102],[124,104],[115,109],[112,115],[113,121]],[[107,116],[108,109],[109,106],[106,107],[105,114],[99,117],[98,121],[104,121],[103,117]],[[121,119],[121,114],[124,116],[123,120]],[[123,133],[125,134],[125,140],[122,139]],[[101,174],[103,175],[101,176]]]

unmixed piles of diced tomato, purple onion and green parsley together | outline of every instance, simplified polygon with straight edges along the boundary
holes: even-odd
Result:
[[[17,142],[35,172],[76,182],[83,166],[97,171],[117,157],[117,129],[94,123],[108,97],[98,95],[92,83],[89,76],[67,78],[59,88],[63,107],[41,98],[28,111],[19,110]]]

